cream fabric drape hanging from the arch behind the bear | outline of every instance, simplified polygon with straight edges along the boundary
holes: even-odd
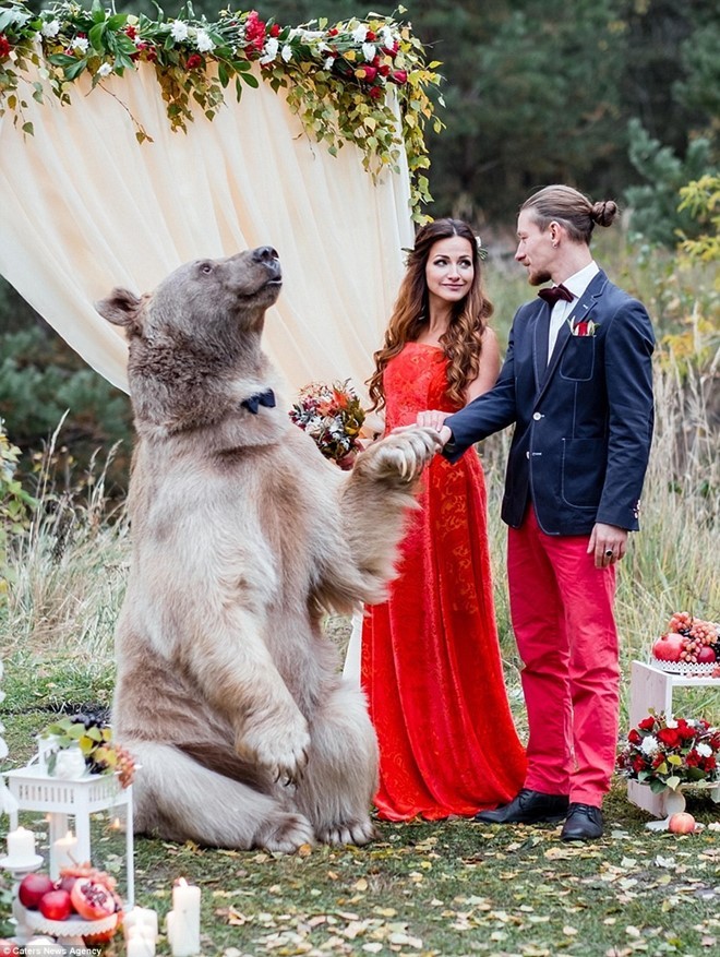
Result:
[[[0,273],[127,391],[124,340],[95,300],[274,246],[285,284],[265,347],[290,391],[349,378],[362,393],[412,244],[407,169],[373,183],[352,144],[331,156],[262,81],[239,104],[230,87],[212,122],[197,109],[187,134],[171,131],[151,65],[103,86],[76,82],[71,106],[24,86],[22,120],[0,118]]]

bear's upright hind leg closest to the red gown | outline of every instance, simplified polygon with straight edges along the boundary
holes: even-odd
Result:
[[[362,692],[333,689],[311,716],[310,757],[296,804],[323,844],[368,844],[375,830],[370,804],[377,787],[377,741]]]

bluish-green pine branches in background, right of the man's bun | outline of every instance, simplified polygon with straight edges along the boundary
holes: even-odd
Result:
[[[711,167],[711,144],[705,137],[693,140],[681,159],[643,128],[639,120],[628,124],[629,157],[646,182],[629,187],[625,201],[631,207],[631,234],[635,239],[674,247],[679,235],[698,232],[695,217],[686,206],[677,206],[681,188],[701,177]]]

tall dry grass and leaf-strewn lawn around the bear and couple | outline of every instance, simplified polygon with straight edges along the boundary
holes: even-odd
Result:
[[[712,418],[720,359],[713,352],[717,333],[708,334],[700,321],[712,314],[717,292],[705,283],[691,294],[689,273],[624,249],[601,247],[598,258],[648,302],[660,337],[674,336],[656,360],[657,427],[643,530],[632,537],[619,574],[616,612],[627,677],[631,661],[647,658],[673,611],[720,619],[720,462]],[[528,288],[517,267],[491,262],[488,273],[503,340]],[[506,529],[500,522],[508,442],[507,434],[493,436],[481,454],[501,648],[514,716],[525,734],[505,585]],[[5,769],[31,757],[33,735],[58,709],[107,706],[112,695],[112,629],[130,557],[127,523],[121,512],[108,521],[101,477],[87,485],[82,500],[55,495],[49,486],[41,492],[31,533],[11,542],[13,585],[0,608]],[[340,646],[346,643],[347,620],[331,619],[328,630]],[[675,710],[717,722],[720,699],[713,689],[687,690],[677,694]],[[626,720],[625,691],[621,727]],[[691,792],[689,810],[706,824],[720,817],[701,792]],[[175,878],[200,884],[205,957],[699,957],[717,949],[717,833],[648,832],[648,816],[628,803],[621,779],[609,795],[605,820],[607,836],[579,847],[560,842],[556,828],[503,829],[465,821],[380,824],[377,840],[367,848],[307,848],[291,858],[139,838],[136,897],[164,916]],[[34,826],[41,830],[43,822]],[[0,839],[3,828],[7,818],[0,818]],[[168,953],[161,938],[158,954]]]

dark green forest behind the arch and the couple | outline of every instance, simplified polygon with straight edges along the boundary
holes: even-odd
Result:
[[[255,5],[264,19],[291,25],[369,12],[357,0]],[[154,14],[148,0],[116,7]],[[181,9],[168,3],[165,12]],[[195,0],[193,9],[212,21],[218,2]],[[394,12],[384,2],[373,9]],[[548,182],[621,201],[638,256],[672,249],[679,229],[693,236],[703,228],[677,206],[682,186],[718,169],[720,7],[713,0],[406,0],[396,16],[442,62],[445,105],[437,112],[445,129],[429,134],[434,201],[427,212],[477,227],[499,267],[491,283],[503,283],[518,204]],[[512,296],[503,302],[501,335],[517,304]],[[93,454],[119,443],[106,490],[121,495],[131,445],[128,397],[0,279],[0,418],[23,452],[20,475],[37,469],[65,411],[55,450],[59,480],[82,482]]]

